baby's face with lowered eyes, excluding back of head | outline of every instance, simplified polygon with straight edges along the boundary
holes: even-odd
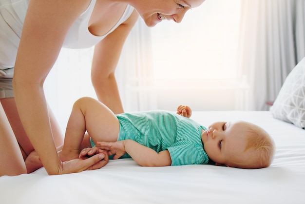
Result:
[[[201,140],[209,158],[216,165],[227,165],[233,156],[242,157],[246,149],[248,127],[243,122],[215,122],[203,131]]]

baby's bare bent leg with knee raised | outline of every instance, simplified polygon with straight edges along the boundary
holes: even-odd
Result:
[[[84,138],[85,131],[93,141],[115,142],[119,131],[119,122],[114,113],[103,103],[84,97],[74,103],[70,115],[64,145],[59,153],[62,161],[78,158],[83,148],[82,143],[88,143]]]

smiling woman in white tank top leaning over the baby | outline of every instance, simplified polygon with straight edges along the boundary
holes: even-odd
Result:
[[[1,141],[4,141],[0,144],[4,155],[0,159],[0,175],[26,173],[24,160],[30,163],[28,168],[38,168],[38,155],[50,175],[105,165],[102,153],[68,162],[61,162],[58,157],[56,147],[62,143],[62,137],[48,109],[43,82],[61,47],[95,45],[92,82],[96,95],[114,113],[122,113],[114,70],[138,15],[149,27],[162,20],[180,22],[188,10],[203,1],[0,0],[0,84],[5,84],[0,85],[5,93],[0,109]],[[23,134],[19,136],[18,130]]]

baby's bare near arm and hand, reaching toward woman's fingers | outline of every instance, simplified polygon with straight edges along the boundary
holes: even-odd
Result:
[[[168,150],[157,153],[153,149],[143,146],[133,140],[123,140],[114,143],[97,142],[96,146],[109,151],[109,155],[114,155],[118,159],[126,152],[133,160],[141,166],[170,166],[172,159]]]

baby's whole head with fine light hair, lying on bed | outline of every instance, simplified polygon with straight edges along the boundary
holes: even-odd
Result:
[[[264,168],[272,161],[274,143],[261,127],[250,122],[215,122],[202,133],[209,158],[216,165]]]

